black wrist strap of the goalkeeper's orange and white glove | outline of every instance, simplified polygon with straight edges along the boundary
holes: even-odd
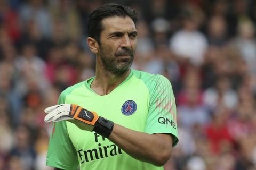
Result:
[[[114,128],[114,123],[112,121],[107,120],[99,116],[99,119],[94,125],[93,131],[102,135],[102,137],[108,138]]]

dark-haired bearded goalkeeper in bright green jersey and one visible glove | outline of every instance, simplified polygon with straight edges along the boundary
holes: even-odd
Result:
[[[59,105],[45,109],[45,122],[55,122],[48,166],[163,169],[170,158],[178,142],[172,87],[162,75],[130,69],[136,24],[137,13],[122,5],[102,5],[90,14],[95,77],[67,88]]]

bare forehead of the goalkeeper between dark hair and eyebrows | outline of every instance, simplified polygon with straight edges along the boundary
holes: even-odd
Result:
[[[110,33],[115,31],[131,32],[136,31],[135,24],[128,16],[113,16],[102,20],[102,33]]]

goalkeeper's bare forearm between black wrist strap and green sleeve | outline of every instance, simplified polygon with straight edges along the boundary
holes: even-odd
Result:
[[[169,134],[147,134],[114,124],[109,140],[135,159],[164,165],[171,156],[172,137]]]

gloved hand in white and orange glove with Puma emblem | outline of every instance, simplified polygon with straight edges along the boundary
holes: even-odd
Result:
[[[44,122],[46,123],[68,120],[78,125],[79,128],[87,131],[92,131],[95,123],[99,119],[96,112],[88,111],[76,104],[55,105],[47,107],[44,112],[47,113],[44,117]],[[74,122],[72,120],[78,121]]]

